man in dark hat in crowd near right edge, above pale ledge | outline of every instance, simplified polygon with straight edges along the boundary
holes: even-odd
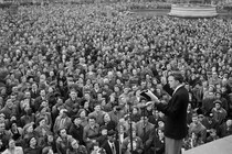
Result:
[[[213,101],[213,103],[214,103],[214,108],[212,109],[213,119],[214,119],[219,124],[221,124],[221,123],[225,120],[228,113],[226,113],[226,111],[222,108],[222,102],[221,102],[221,100],[215,100],[215,101]]]

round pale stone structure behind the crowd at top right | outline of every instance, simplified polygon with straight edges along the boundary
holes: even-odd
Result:
[[[172,4],[168,14],[178,18],[214,18],[218,15],[215,7],[197,4]]]

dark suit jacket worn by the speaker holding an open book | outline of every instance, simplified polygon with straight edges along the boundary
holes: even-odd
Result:
[[[164,87],[166,89],[168,87]],[[169,88],[170,89],[170,88]],[[166,90],[172,96],[171,90]],[[166,114],[165,135],[170,139],[181,140],[188,134],[187,128],[187,107],[189,92],[181,86],[173,94],[167,105],[158,103],[157,109]]]

